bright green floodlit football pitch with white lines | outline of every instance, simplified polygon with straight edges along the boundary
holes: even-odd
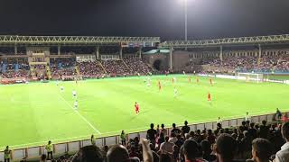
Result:
[[[75,82],[0,85],[0,148],[23,148],[76,139],[147,130],[150,123],[196,123],[289,110],[289,85],[195,76],[146,76]],[[161,81],[159,91],[157,82]],[[64,86],[64,92],[60,86]],[[174,87],[177,96],[174,97]],[[74,110],[76,90],[79,110]],[[207,101],[208,92],[211,103]],[[135,102],[140,113],[135,114]]]

